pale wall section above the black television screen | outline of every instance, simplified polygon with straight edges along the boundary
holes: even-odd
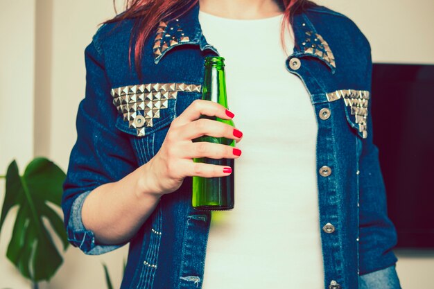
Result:
[[[374,62],[434,64],[434,1],[318,0],[350,17],[372,46]]]

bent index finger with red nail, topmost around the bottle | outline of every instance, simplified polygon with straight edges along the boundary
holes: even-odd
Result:
[[[187,107],[180,116],[174,120],[178,125],[185,125],[186,123],[191,123],[191,121],[196,121],[201,115],[207,116],[217,116],[220,119],[232,119],[234,114],[226,110],[223,105],[214,103],[209,100],[194,100],[189,107]]]

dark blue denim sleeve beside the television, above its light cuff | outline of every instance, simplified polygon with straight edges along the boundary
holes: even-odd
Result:
[[[367,42],[367,41],[366,41]],[[367,78],[372,84],[372,57],[367,42]],[[372,91],[372,89],[370,89]],[[360,274],[367,274],[393,265],[397,258],[392,247],[397,234],[388,218],[385,186],[379,163],[379,149],[372,141],[372,96],[367,116],[367,138],[362,140],[359,161],[359,262]]]

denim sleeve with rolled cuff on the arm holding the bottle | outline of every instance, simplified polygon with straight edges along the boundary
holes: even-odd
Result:
[[[77,140],[63,184],[62,209],[69,242],[85,254],[102,254],[124,244],[96,243],[94,233],[82,222],[83,202],[96,187],[131,173],[137,168],[137,159],[127,136],[115,127],[116,107],[96,37],[85,49],[85,64],[85,98],[78,106]]]

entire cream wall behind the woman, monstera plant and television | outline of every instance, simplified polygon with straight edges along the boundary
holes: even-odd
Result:
[[[318,3],[343,12],[358,24],[370,40],[375,62],[434,64],[432,0]],[[12,158],[17,158],[22,170],[37,155],[53,159],[66,170],[76,140],[76,111],[85,91],[84,49],[98,23],[114,15],[112,1],[15,0],[2,4],[0,103],[10,105],[0,105],[0,175],[6,173]],[[0,200],[3,193],[0,189]],[[12,221],[8,218],[0,238],[0,288],[30,288],[4,257]],[[85,256],[70,247],[58,274],[40,288],[105,288],[101,262],[109,265],[116,288],[126,249]],[[434,252],[397,253],[403,288],[434,288]]]

